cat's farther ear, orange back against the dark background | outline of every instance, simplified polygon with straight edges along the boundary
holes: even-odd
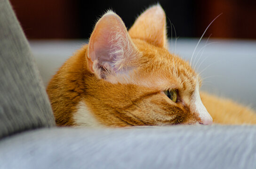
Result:
[[[166,16],[157,4],[144,11],[128,31],[131,38],[140,38],[159,46],[167,47]]]

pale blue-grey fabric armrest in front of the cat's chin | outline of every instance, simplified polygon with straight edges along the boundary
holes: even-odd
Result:
[[[0,169],[256,169],[256,126],[40,129],[0,150]]]

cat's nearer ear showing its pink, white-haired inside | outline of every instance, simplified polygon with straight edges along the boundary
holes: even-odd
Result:
[[[88,66],[99,78],[124,73],[139,54],[121,18],[107,12],[96,23],[88,44]]]

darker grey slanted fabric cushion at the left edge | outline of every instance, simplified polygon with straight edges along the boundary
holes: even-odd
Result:
[[[0,0],[0,138],[54,117],[28,42],[8,0]]]

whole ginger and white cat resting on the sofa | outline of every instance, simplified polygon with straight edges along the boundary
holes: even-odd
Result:
[[[256,123],[253,110],[200,93],[200,83],[187,61],[168,52],[166,16],[155,5],[129,31],[112,11],[103,15],[47,92],[58,126]]]

